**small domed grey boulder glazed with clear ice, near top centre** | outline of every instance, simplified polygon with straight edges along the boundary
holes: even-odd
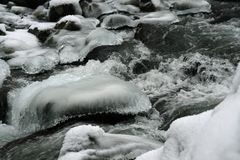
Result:
[[[106,29],[120,29],[123,27],[134,28],[137,26],[137,22],[130,17],[121,14],[112,14],[106,16],[101,23],[101,27]]]

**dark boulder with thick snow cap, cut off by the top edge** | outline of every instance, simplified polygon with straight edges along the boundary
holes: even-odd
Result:
[[[66,15],[81,15],[79,0],[51,0],[49,2],[49,20],[58,21]]]

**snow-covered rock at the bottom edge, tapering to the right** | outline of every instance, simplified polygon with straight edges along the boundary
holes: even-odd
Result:
[[[109,134],[98,126],[83,125],[66,133],[58,160],[134,159],[160,146],[145,138]]]

